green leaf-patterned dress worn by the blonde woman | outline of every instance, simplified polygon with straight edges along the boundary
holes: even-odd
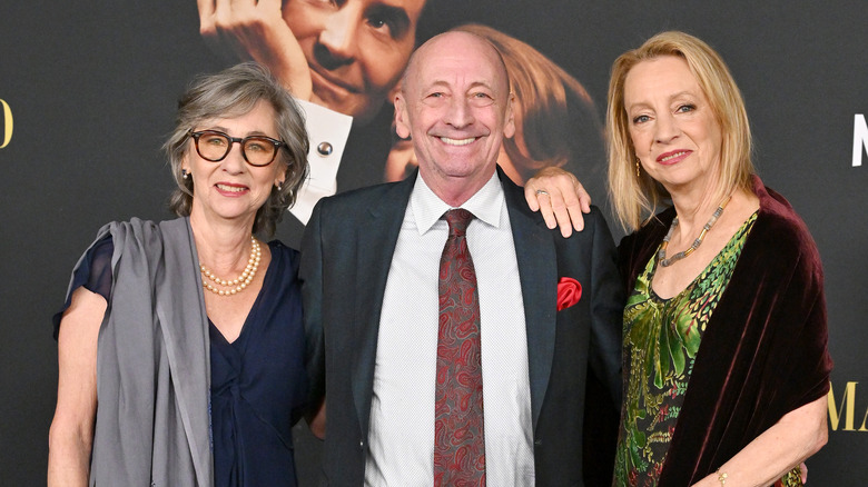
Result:
[[[756,219],[753,213],[693,282],[670,299],[661,299],[651,289],[657,257],[637,278],[624,308],[624,375],[629,382],[615,486],[658,485],[702,332]]]

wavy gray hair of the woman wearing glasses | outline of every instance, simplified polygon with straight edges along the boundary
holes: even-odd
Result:
[[[189,216],[193,207],[193,178],[184,179],[181,175],[185,152],[194,143],[189,131],[207,120],[243,116],[260,100],[274,108],[278,138],[286,143],[273,162],[284,166],[284,183],[279,190],[272,188],[268,200],[256,212],[253,227],[254,233],[274,235],[277,222],[295,203],[298,189],[307,178],[308,139],[304,116],[293,97],[256,62],[199,76],[180,97],[175,130],[162,146],[178,185],[169,200],[169,208],[176,215]]]

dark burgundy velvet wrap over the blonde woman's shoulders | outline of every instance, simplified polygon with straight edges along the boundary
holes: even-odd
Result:
[[[757,221],[709,319],[660,485],[689,486],[713,473],[783,415],[829,390],[822,267],[789,202],[753,178]],[[625,289],[667,233],[670,208],[624,237]]]

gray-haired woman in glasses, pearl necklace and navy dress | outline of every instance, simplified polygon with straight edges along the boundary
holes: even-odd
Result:
[[[239,64],[195,81],[164,148],[179,218],[105,226],[56,317],[48,484],[293,486],[316,345],[297,252],[260,237],[305,179],[303,117]]]

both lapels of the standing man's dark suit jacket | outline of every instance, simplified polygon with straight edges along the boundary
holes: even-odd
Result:
[[[531,386],[533,426],[540,418],[549,386],[554,357],[554,334],[558,300],[558,257],[552,232],[537,213],[527,208],[524,193],[497,168],[510,215],[519,278],[524,301],[527,332],[527,361]],[[401,225],[404,219],[415,176],[392,186],[379,203],[372,207],[367,220],[357,227],[356,319],[359,344],[353,367],[353,396],[362,433],[368,431],[371,398],[374,384],[376,344],[383,297],[392,266]]]

